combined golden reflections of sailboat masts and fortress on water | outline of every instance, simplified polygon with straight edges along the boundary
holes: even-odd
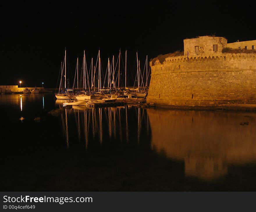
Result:
[[[129,143],[136,138],[138,145],[141,138],[144,142],[147,138],[153,151],[183,161],[186,176],[209,181],[227,175],[230,165],[256,162],[255,113],[129,109],[127,106],[90,109],[73,106],[66,108],[67,111],[76,114],[79,141],[83,129],[86,148],[91,139],[102,144],[102,140],[116,139],[117,134],[120,142]],[[127,114],[136,114],[136,118],[131,122]],[[248,125],[240,124],[244,122]],[[104,130],[102,125],[106,126]],[[68,143],[68,132],[66,136]]]

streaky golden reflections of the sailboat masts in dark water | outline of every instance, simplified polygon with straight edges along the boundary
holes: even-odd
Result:
[[[88,143],[92,141],[99,141],[100,144],[112,140],[120,143],[133,141],[133,143],[139,144],[141,136],[143,136],[145,143],[150,146],[150,139],[148,139],[150,131],[147,130],[150,127],[146,109],[135,106],[105,108],[72,106],[63,108],[65,116],[61,114],[61,123],[67,148],[71,139],[69,135],[72,136],[73,140],[84,142],[86,149]]]

